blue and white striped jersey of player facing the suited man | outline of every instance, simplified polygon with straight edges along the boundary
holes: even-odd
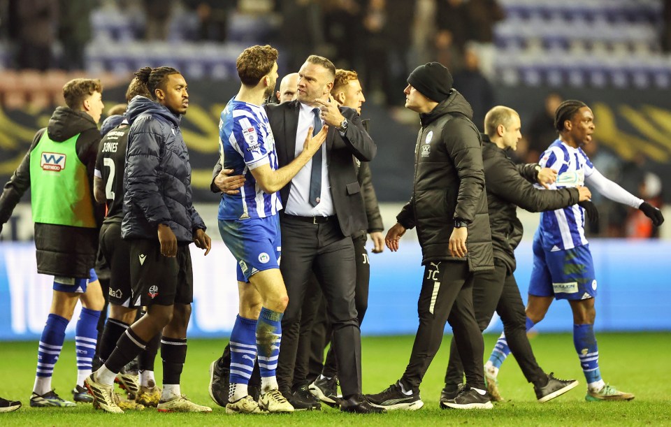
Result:
[[[282,209],[280,193],[266,194],[250,170],[268,164],[276,171],[275,138],[266,110],[261,106],[231,99],[219,120],[219,155],[224,169],[245,175],[238,194],[224,194],[219,219],[265,218]]]

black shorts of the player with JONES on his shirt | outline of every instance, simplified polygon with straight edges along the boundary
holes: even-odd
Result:
[[[120,222],[103,222],[100,229],[100,252],[110,268],[110,304],[134,307],[131,301],[130,246],[121,238]]]

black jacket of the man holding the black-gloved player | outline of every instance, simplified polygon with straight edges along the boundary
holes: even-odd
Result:
[[[503,261],[512,273],[516,266],[514,250],[524,233],[517,218],[517,206],[530,212],[565,208],[578,203],[579,193],[575,187],[557,190],[534,187],[537,164],[515,166],[505,151],[489,142],[486,135],[482,139],[494,258]]]

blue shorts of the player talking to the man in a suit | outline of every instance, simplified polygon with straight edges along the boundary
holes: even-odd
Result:
[[[280,268],[282,236],[279,215],[252,219],[219,219],[219,233],[238,261],[238,282],[262,270]]]

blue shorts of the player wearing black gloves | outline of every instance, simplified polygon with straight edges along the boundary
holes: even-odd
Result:
[[[533,238],[533,268],[529,295],[554,296],[558,300],[596,297],[596,276],[589,245],[551,251]]]

